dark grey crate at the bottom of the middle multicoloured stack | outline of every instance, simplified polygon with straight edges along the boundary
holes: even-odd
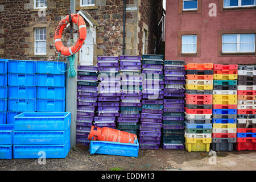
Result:
[[[213,138],[212,150],[213,151],[232,151],[234,143],[237,142],[237,138]]]

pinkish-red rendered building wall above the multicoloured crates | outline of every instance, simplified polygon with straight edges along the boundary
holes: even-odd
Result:
[[[223,9],[224,0],[197,2],[198,10],[183,11],[183,0],[167,1],[165,59],[186,63],[255,64],[255,52],[222,53],[221,43],[222,34],[256,33],[256,7]],[[216,16],[209,16],[215,5]],[[182,35],[197,35],[196,54],[181,54]]]

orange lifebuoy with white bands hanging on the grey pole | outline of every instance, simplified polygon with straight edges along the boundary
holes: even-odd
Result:
[[[76,23],[79,29],[78,38],[73,46],[65,47],[61,41],[62,32],[69,23],[69,15],[67,15],[60,21],[59,26],[54,33],[54,45],[56,51],[58,53],[61,53],[61,55],[63,56],[72,56],[77,51],[79,51],[82,47],[82,44],[84,44],[84,40],[86,38],[86,24],[84,22],[84,19],[82,19],[82,17],[77,14],[71,14],[71,19],[72,23]]]

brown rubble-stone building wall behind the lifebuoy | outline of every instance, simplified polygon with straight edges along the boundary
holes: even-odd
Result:
[[[68,15],[69,0],[48,0],[46,16],[34,9],[34,0],[0,1],[0,57],[23,60],[56,60],[53,35],[57,24]],[[147,32],[144,53],[155,53],[158,42],[157,25],[163,14],[162,0],[126,0],[126,7],[137,10],[126,11],[125,55],[142,55],[143,31]],[[97,56],[122,55],[123,1],[95,0],[95,6],[80,6],[76,0],[76,11],[86,11],[96,22],[94,64]],[[86,23],[88,28],[89,24]],[[34,54],[34,28],[47,28],[47,54]],[[69,39],[67,30],[64,45]]]

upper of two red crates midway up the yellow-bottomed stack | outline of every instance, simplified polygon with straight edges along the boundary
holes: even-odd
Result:
[[[194,94],[185,94],[185,101],[187,104],[195,105],[212,105],[212,95],[194,95]]]

